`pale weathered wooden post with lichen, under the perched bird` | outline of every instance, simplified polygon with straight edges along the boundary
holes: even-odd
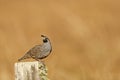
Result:
[[[49,80],[47,67],[39,61],[15,63],[15,80]]]

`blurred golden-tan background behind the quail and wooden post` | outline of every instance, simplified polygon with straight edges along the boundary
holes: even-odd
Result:
[[[120,80],[120,1],[0,0],[0,80],[27,50],[52,42],[50,80]]]

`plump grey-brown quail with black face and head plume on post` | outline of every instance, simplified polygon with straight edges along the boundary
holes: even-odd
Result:
[[[41,35],[43,43],[39,45],[35,45],[33,48],[28,50],[27,53],[18,61],[28,59],[28,58],[33,58],[37,61],[46,58],[52,51],[52,45],[50,42],[50,39],[47,36]]]

